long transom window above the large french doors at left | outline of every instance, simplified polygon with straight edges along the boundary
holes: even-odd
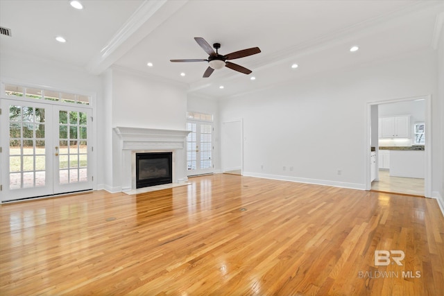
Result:
[[[89,96],[82,94],[69,94],[66,92],[56,92],[50,89],[40,89],[35,87],[24,87],[20,85],[5,85],[6,96],[32,98],[36,100],[46,100],[61,103],[89,105]]]

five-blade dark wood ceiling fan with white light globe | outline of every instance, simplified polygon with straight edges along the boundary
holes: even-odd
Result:
[[[259,47],[252,47],[251,49],[234,51],[234,53],[228,53],[228,55],[220,55],[218,53],[218,49],[221,48],[220,43],[213,44],[214,49],[216,49],[216,51],[214,51],[210,44],[208,44],[208,42],[206,42],[202,37],[194,37],[194,40],[196,40],[200,47],[202,47],[202,49],[210,55],[207,59],[170,60],[170,62],[208,62],[209,67],[205,73],[203,73],[204,78],[210,77],[215,69],[222,69],[223,67],[228,67],[234,71],[249,74],[252,72],[250,69],[246,69],[245,67],[239,66],[239,64],[234,64],[233,62],[227,62],[227,60],[244,58],[248,55],[255,55],[256,53],[261,52]]]

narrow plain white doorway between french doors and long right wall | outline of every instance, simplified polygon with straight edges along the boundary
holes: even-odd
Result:
[[[233,175],[243,172],[242,120],[222,123],[222,171]]]

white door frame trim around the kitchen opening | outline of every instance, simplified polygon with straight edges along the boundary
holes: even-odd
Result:
[[[364,146],[364,176],[365,180],[365,190],[369,191],[371,189],[371,167],[370,167],[370,137],[371,137],[371,108],[373,105],[382,105],[386,103],[399,103],[405,101],[413,101],[418,99],[425,100],[425,126],[427,129],[427,136],[425,137],[425,177],[424,177],[424,195],[426,198],[432,198],[432,96],[431,95],[423,95],[423,96],[411,96],[407,98],[395,98],[391,100],[385,101],[374,101],[368,102],[366,107],[366,141]]]

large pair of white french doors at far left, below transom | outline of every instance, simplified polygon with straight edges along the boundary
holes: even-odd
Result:
[[[92,189],[91,110],[1,99],[1,200]]]

